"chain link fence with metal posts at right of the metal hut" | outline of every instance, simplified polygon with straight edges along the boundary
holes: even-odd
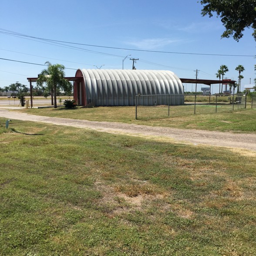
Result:
[[[254,97],[255,96],[255,97]],[[256,95],[247,94],[165,94],[137,95],[136,119],[168,118],[193,114],[227,113],[256,107]]]

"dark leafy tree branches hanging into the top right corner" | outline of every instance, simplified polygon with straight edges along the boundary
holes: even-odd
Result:
[[[216,13],[226,28],[221,37],[232,36],[236,41],[243,37],[245,28],[253,28],[256,40],[256,0],[201,0],[202,16]]]

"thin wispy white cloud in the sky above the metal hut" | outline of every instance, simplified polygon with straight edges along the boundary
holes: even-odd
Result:
[[[163,47],[177,43],[179,40],[168,39],[168,38],[151,38],[151,39],[143,39],[143,40],[134,40],[128,41],[126,44],[129,44],[133,47],[137,47],[138,49],[143,50],[154,50],[154,49],[162,49]]]

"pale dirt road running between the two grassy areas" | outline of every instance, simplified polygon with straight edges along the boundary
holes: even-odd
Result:
[[[183,130],[167,127],[152,127],[145,125],[130,125],[115,122],[98,122],[77,120],[69,118],[51,118],[44,116],[28,115],[25,113],[11,112],[0,109],[0,116],[8,119],[23,121],[44,122],[54,125],[67,125],[77,128],[88,128],[108,133],[126,135],[155,136],[159,138],[174,139],[184,143],[205,144],[221,147],[249,149],[256,152],[256,134],[238,134],[220,131]]]

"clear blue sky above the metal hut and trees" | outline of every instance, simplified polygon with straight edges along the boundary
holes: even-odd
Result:
[[[202,17],[201,9],[198,0],[1,0],[0,87],[29,86],[27,77],[37,77],[46,61],[63,64],[74,77],[79,68],[132,69],[130,58],[138,59],[136,69],[169,70],[180,78],[195,78],[198,70],[199,79],[218,79],[226,65],[224,78],[238,81],[241,64],[241,89],[253,86],[253,30],[239,42],[221,38],[220,18]]]

